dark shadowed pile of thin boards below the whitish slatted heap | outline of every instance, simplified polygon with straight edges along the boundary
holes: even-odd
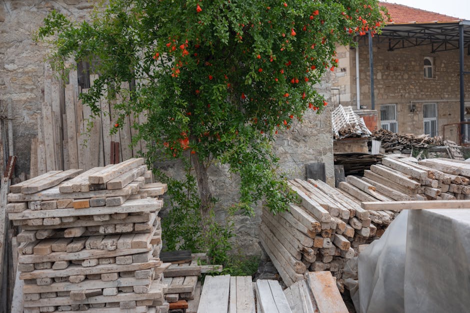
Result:
[[[380,164],[382,155],[369,153],[335,153],[334,165],[344,167],[344,175],[363,175],[364,170],[370,169],[371,165]]]

